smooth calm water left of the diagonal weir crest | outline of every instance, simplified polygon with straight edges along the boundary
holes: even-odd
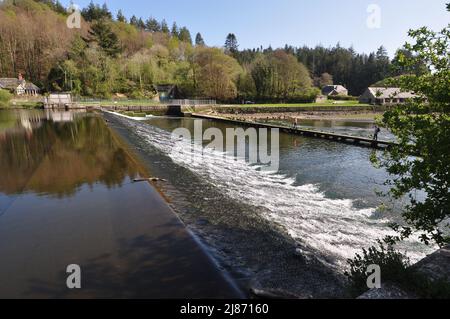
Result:
[[[0,111],[0,298],[238,296],[140,176],[99,114]]]

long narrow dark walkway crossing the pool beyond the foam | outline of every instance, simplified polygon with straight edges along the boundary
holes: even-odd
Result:
[[[288,133],[288,134],[296,134],[296,135],[302,135],[302,136],[308,136],[308,137],[321,138],[321,139],[332,140],[332,141],[341,142],[341,143],[354,144],[357,146],[370,147],[370,148],[374,148],[374,149],[387,149],[387,148],[397,145],[394,142],[382,141],[382,140],[375,141],[373,139],[366,138],[366,137],[320,132],[320,131],[315,131],[315,130],[309,130],[309,129],[304,129],[304,128],[294,128],[294,127],[288,127],[288,126],[282,126],[282,125],[265,124],[265,123],[258,123],[258,122],[249,122],[249,121],[239,121],[239,120],[233,120],[233,119],[228,119],[228,118],[224,118],[224,117],[220,117],[220,116],[213,116],[213,115],[192,113],[191,116],[194,118],[221,121],[221,122],[227,122],[227,123],[232,123],[235,125],[242,125],[242,126],[248,126],[248,127],[268,128],[268,129],[274,128],[274,129],[279,129],[280,132],[284,132],[284,133]]]

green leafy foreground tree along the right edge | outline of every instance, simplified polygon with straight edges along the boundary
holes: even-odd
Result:
[[[418,232],[424,243],[442,246],[450,242],[450,25],[439,33],[411,30],[409,36],[416,43],[404,49],[412,54],[400,52],[396,63],[406,69],[423,64],[428,72],[392,80],[417,97],[384,114],[381,124],[397,136],[398,145],[373,161],[391,175],[389,195],[410,200],[402,212],[407,225],[394,225],[399,236],[389,240]]]

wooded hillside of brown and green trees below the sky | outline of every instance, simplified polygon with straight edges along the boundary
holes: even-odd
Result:
[[[421,72],[396,67],[383,47],[370,54],[339,44],[240,50],[230,33],[216,48],[176,22],[127,19],[106,4],[82,9],[81,29],[66,26],[71,13],[58,0],[4,1],[0,77],[22,73],[47,92],[99,98],[151,98],[154,85],[176,84],[186,97],[299,102],[328,84],[357,96],[387,77]]]

